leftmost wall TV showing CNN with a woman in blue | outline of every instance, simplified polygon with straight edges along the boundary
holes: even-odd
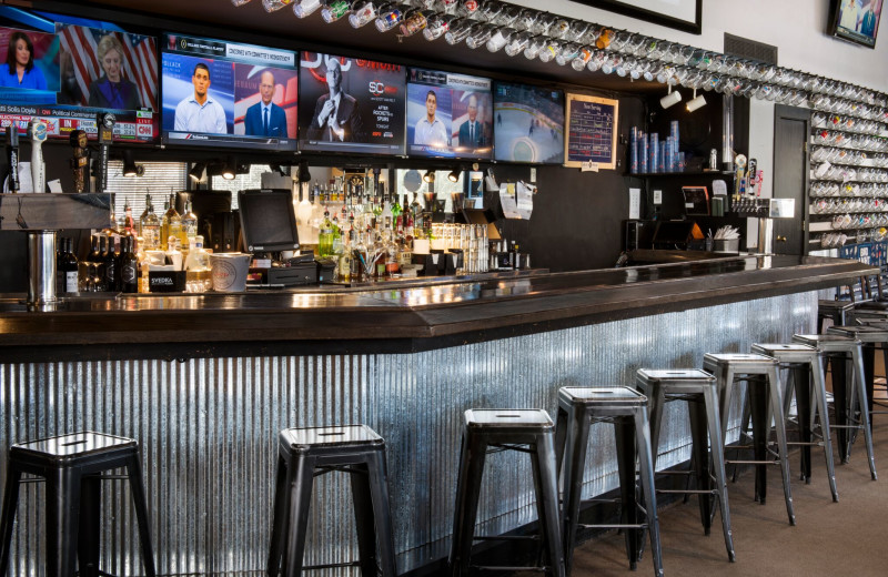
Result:
[[[119,142],[155,142],[157,38],[110,22],[0,7],[0,125],[24,134],[38,118],[50,139],[83,130],[111,112]]]

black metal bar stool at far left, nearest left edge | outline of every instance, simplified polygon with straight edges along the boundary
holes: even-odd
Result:
[[[0,519],[0,576],[7,574],[12,528],[23,474],[47,484],[47,575],[108,575],[99,569],[100,506],[103,479],[129,479],[142,544],[145,575],[154,577],[154,555],[148,519],[139,443],[90,431],[17,443],[9,448],[9,470]],[[125,475],[103,475],[125,468]],[[75,565],[77,564],[77,565]]]

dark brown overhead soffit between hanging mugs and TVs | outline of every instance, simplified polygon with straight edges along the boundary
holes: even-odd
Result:
[[[523,55],[509,58],[502,51],[491,53],[484,48],[472,50],[465,44],[453,47],[443,39],[428,42],[421,34],[398,39],[394,30],[380,33],[372,24],[355,30],[345,19],[326,24],[320,11],[302,20],[289,7],[269,13],[261,0],[252,0],[240,8],[229,0],[34,0],[33,4],[34,8],[46,6],[47,9],[57,7],[59,10],[67,8],[68,11],[73,7],[78,12],[83,6],[99,10],[113,9],[102,18],[121,23],[129,23],[123,21],[128,19],[132,24],[172,32],[186,29],[192,33],[223,40],[310,50],[336,47],[343,55],[377,58],[407,65],[438,65],[454,71],[465,68],[494,79],[521,77],[542,84],[584,87],[594,92],[663,92],[663,85],[656,82],[630,82],[615,74],[577,72],[569,65],[559,67],[554,61],[544,63],[527,60]]]

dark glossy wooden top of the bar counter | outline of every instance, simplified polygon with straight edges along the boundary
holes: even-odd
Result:
[[[735,256],[431,285],[0,300],[4,360],[411,352],[846,284],[877,269]],[[139,351],[135,351],[139,350]]]

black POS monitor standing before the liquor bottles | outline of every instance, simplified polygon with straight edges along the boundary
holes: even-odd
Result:
[[[241,233],[246,252],[280,252],[299,249],[293,194],[284,189],[248,190],[238,193]]]

